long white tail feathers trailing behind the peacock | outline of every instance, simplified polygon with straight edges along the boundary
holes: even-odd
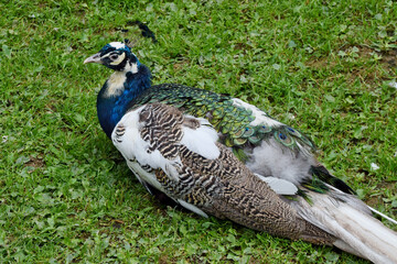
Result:
[[[374,263],[397,263],[397,233],[373,218],[364,202],[336,189],[331,196],[310,197],[311,205],[301,199],[292,206],[303,219],[336,237],[336,248]]]

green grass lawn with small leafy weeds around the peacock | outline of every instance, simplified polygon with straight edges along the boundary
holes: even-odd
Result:
[[[319,160],[362,199],[397,217],[397,90],[388,86],[395,2],[15,0],[0,8],[1,263],[366,263],[150,197],[97,122],[96,95],[110,70],[83,65],[125,37],[154,84],[228,92],[267,109],[311,135]],[[137,19],[158,44],[129,25]]]

